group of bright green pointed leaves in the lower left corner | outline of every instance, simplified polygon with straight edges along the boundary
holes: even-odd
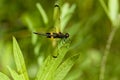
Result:
[[[17,72],[12,70],[10,67],[8,67],[8,70],[10,71],[12,78],[14,80],[29,80],[22,52],[14,37],[13,37],[13,53],[14,53],[14,60],[16,63],[16,67],[17,67]],[[4,80],[9,80],[9,78],[7,78],[2,73],[1,73],[1,78],[3,78]]]

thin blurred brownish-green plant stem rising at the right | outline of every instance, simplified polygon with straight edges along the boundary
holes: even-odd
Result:
[[[110,47],[111,47],[111,43],[112,40],[114,38],[115,32],[116,32],[117,28],[112,29],[112,31],[110,32],[110,35],[108,37],[107,40],[107,44],[105,47],[105,51],[104,51],[104,55],[101,61],[101,68],[100,68],[100,76],[99,76],[99,80],[104,80],[104,74],[105,74],[105,68],[106,68],[106,62],[107,62],[107,57],[109,55],[109,51],[110,51]]]

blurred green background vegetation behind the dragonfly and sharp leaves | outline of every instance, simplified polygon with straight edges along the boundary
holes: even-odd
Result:
[[[105,2],[107,5],[108,0]],[[48,23],[44,23],[36,3],[42,5],[48,17]],[[23,52],[29,76],[31,79],[34,78],[38,66],[49,53],[52,53],[53,49],[50,39],[37,37],[33,32],[52,30],[54,3],[55,0],[0,0],[1,72],[9,75],[7,66],[15,68],[12,52],[12,36],[15,36]],[[101,58],[112,31],[112,24],[99,0],[63,0],[61,9],[64,9],[65,4],[68,9],[73,5],[75,7],[68,15],[70,19],[65,23],[64,28],[64,32],[70,33],[72,41],[66,56],[80,53],[79,60],[67,76],[76,75],[75,80],[98,80]],[[62,11],[64,14],[67,10]],[[64,21],[63,18],[61,22],[64,23]],[[118,29],[108,55],[105,80],[120,80],[119,34]]]

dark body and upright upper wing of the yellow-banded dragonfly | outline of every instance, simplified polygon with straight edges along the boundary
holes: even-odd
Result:
[[[40,36],[46,36],[47,38],[59,38],[59,39],[67,39],[69,37],[69,33],[62,33],[60,31],[60,6],[59,2],[57,1],[54,5],[54,27],[55,32],[47,32],[47,33],[39,33],[39,32],[33,32],[36,35]]]

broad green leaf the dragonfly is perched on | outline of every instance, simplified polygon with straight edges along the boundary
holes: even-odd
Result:
[[[38,71],[36,80],[53,80],[52,77],[54,75],[55,70],[62,62],[66,52],[68,51],[70,42],[67,43],[64,41],[61,41],[58,45],[58,48],[56,50],[56,54],[58,54],[57,58],[54,58],[53,56],[49,55],[43,65],[40,67],[40,70]]]

